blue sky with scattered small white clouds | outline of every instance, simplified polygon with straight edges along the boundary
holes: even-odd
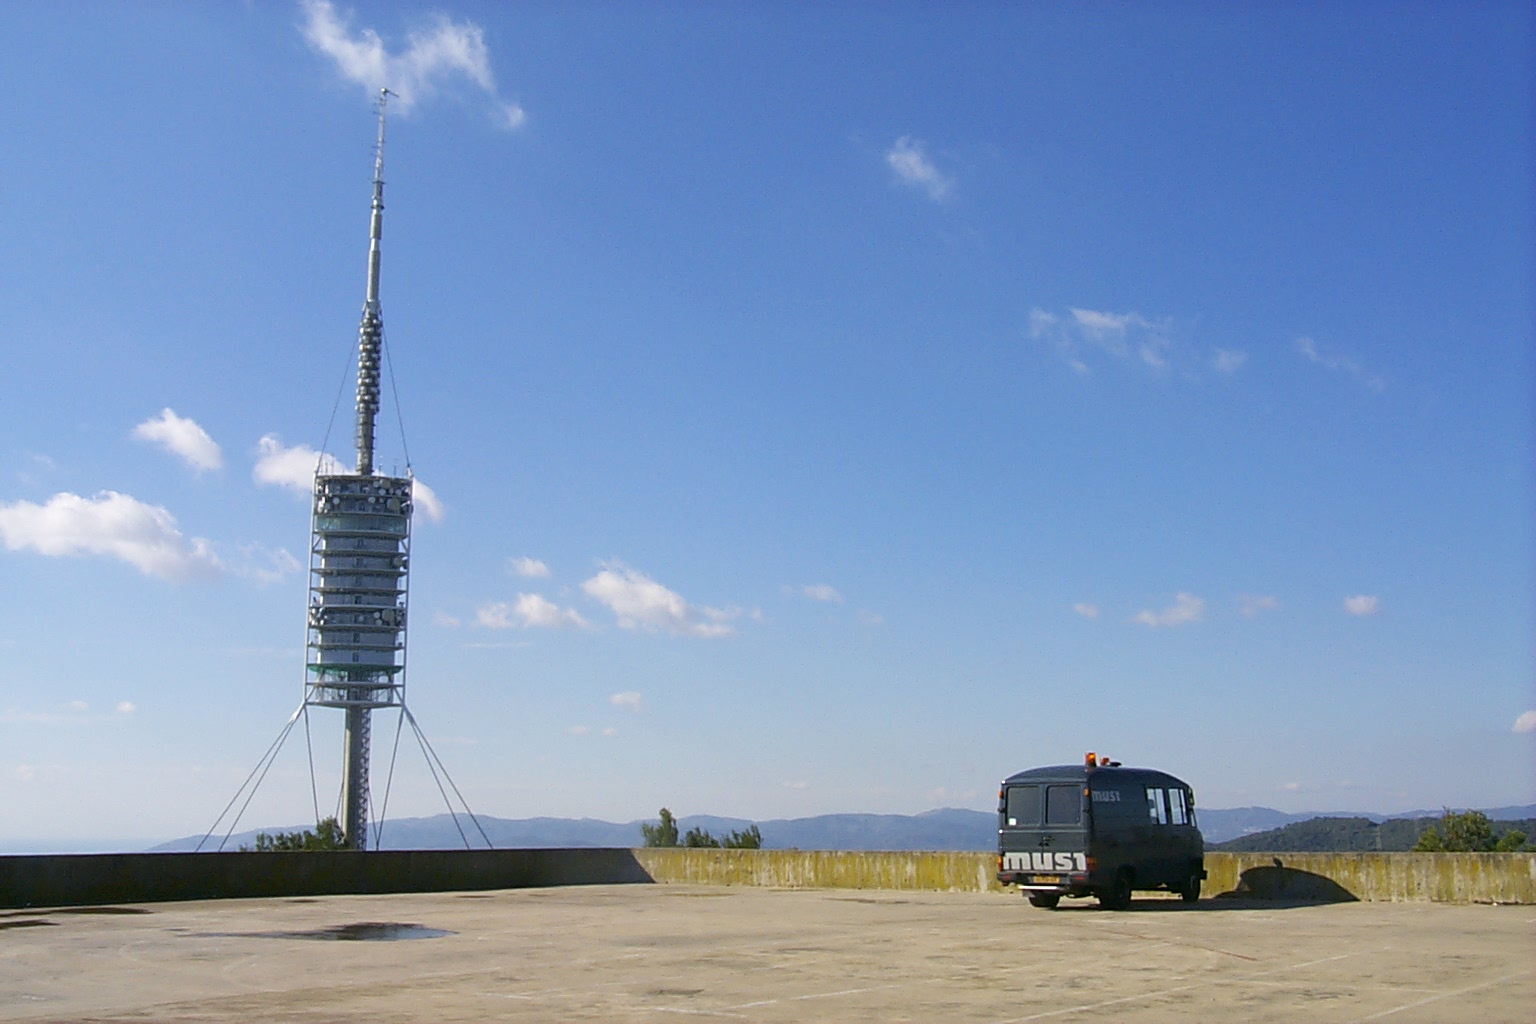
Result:
[[[298,705],[381,83],[409,702],[476,811],[989,808],[1087,749],[1536,798],[1531,31],[0,6],[0,844],[203,831]],[[404,743],[390,800],[441,809]],[[246,821],[310,806],[296,738]]]

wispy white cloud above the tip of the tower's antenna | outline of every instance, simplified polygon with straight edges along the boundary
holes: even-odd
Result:
[[[332,60],[343,78],[367,89],[370,97],[389,88],[396,107],[409,112],[447,80],[464,78],[492,100],[501,127],[521,127],[524,109],[502,100],[490,69],[485,31],[470,20],[455,21],[438,14],[425,29],[406,35],[406,49],[390,54],[373,29],[352,32],[350,15],[336,14],[330,0],[304,0],[304,38]]]

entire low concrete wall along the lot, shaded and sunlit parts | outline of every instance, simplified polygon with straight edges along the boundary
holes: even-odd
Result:
[[[0,907],[614,883],[1000,890],[994,854],[722,849],[0,857]],[[1536,903],[1531,854],[1206,854],[1206,895]]]

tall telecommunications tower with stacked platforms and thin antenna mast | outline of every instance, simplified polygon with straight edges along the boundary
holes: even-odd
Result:
[[[367,849],[369,726],[376,708],[406,703],[406,608],[410,580],[412,477],[373,473],[373,419],[379,410],[379,236],[384,230],[384,104],[373,155],[369,284],[358,327],[353,473],[316,473],[309,543],[309,640],[304,705],[346,715],[343,832]]]

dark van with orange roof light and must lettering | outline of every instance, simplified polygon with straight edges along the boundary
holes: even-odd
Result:
[[[1167,772],[1089,754],[1009,775],[997,794],[997,880],[1037,907],[1098,897],[1123,910],[1134,889],[1193,901],[1204,857],[1195,792]]]

